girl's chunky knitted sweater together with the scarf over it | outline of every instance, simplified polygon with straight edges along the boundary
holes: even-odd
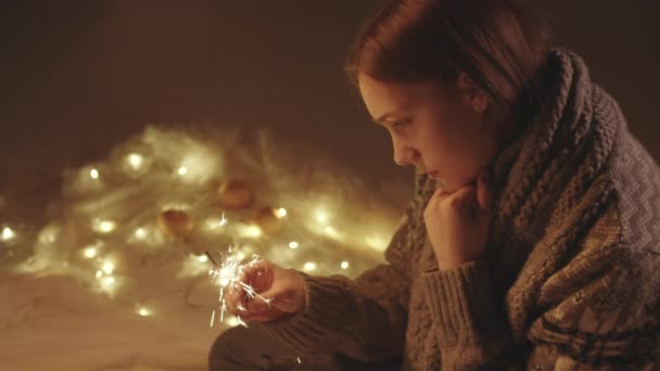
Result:
[[[301,354],[405,370],[660,364],[660,168],[583,61],[553,50],[545,110],[493,161],[482,259],[439,270],[423,175],[385,256],[355,281],[303,277],[306,307],[265,324]]]

